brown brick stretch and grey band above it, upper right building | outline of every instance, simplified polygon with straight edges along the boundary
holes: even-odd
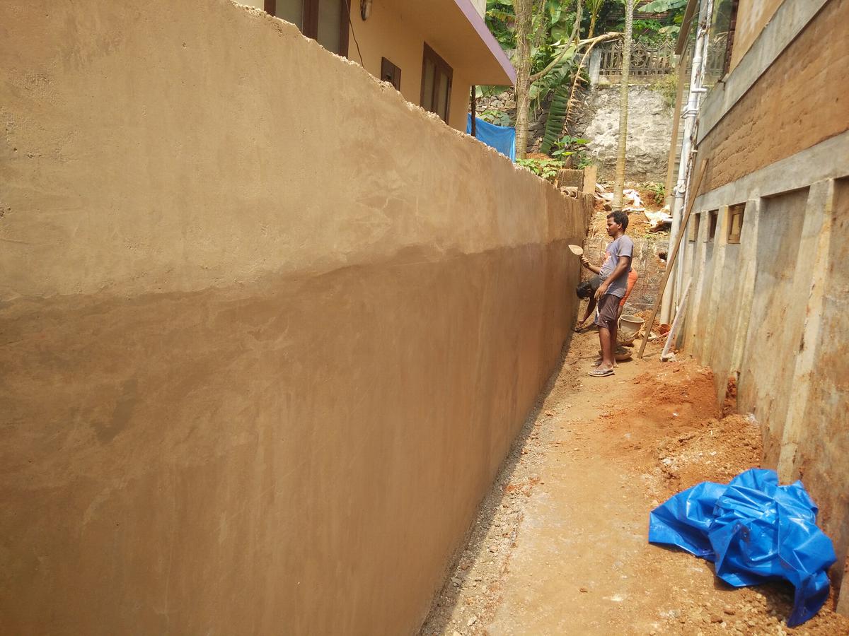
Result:
[[[784,0],[728,81],[706,97],[701,156],[722,160],[708,165],[703,191],[846,131],[847,23],[846,0]]]

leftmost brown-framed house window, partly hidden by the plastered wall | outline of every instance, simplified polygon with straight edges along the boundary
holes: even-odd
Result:
[[[328,51],[347,56],[351,20],[346,0],[265,0],[264,8]]]

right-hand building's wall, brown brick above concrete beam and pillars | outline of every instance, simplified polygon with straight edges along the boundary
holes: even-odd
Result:
[[[817,502],[849,614],[847,20],[849,0],[825,3],[700,143],[707,187],[682,281],[692,276],[684,349],[711,365],[718,399],[736,380],[763,465],[801,478]],[[739,243],[729,206],[744,210]]]

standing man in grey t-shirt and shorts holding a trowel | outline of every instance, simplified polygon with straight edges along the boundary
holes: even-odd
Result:
[[[633,257],[633,241],[625,236],[628,226],[628,215],[624,212],[611,212],[607,215],[607,234],[613,240],[604,250],[606,259],[604,265],[596,267],[587,257],[581,257],[581,263],[589,271],[599,274],[602,283],[595,292],[599,304],[599,315],[595,324],[599,326],[599,341],[601,343],[601,364],[590,375],[605,377],[613,375],[613,351],[616,348],[616,322],[619,319],[619,304],[624,298],[628,286],[628,272],[631,271]]]

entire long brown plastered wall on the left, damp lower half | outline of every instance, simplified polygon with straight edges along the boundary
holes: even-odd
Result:
[[[0,633],[414,631],[585,204],[225,0],[0,30]]]

